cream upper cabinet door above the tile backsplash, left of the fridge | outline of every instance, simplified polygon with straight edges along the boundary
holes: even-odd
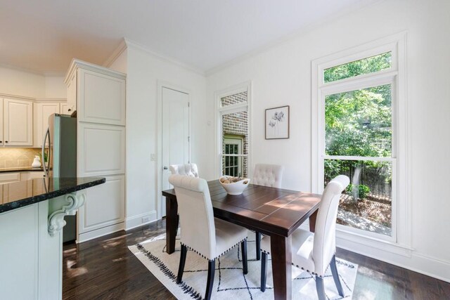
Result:
[[[33,145],[33,103],[4,98],[4,145]]]

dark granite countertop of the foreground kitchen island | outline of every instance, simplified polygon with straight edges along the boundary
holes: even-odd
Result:
[[[0,213],[105,183],[102,177],[36,178],[0,185]]]

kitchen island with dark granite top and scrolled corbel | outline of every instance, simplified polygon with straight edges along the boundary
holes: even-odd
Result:
[[[0,185],[0,299],[61,299],[64,216],[105,178],[37,178]]]

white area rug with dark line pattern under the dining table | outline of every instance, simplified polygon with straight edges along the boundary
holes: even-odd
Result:
[[[175,252],[170,255],[166,253],[165,243],[165,235],[160,235],[131,246],[129,249],[177,299],[203,299],[206,289],[207,260],[188,251],[183,282],[177,285],[179,239],[176,240]],[[344,298],[352,299],[358,266],[342,259],[336,261],[344,287]],[[235,247],[221,256],[216,260],[212,299],[274,299],[270,261],[268,268],[266,292],[263,293],[259,290],[261,261],[255,259],[255,235],[249,232],[248,274],[242,273],[240,247]],[[328,299],[342,299],[335,288],[330,270],[327,272],[324,282]],[[295,267],[293,267],[293,299],[317,299],[314,278]]]

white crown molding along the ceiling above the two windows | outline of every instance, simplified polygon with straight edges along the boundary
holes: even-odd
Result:
[[[317,28],[319,28],[321,26],[330,24],[331,22],[334,22],[335,20],[338,20],[345,15],[349,15],[350,13],[354,13],[356,11],[361,11],[363,9],[369,8],[371,6],[374,6],[375,4],[378,4],[380,2],[384,2],[387,0],[369,0],[369,1],[371,1],[371,4],[364,4],[363,3],[364,1],[359,1],[359,3],[354,4],[350,8],[340,11],[340,13],[335,13],[333,15],[326,15],[323,18],[321,18],[321,20],[311,22],[308,25],[305,25],[304,27],[302,27],[300,30],[293,32],[292,34],[287,34],[284,37],[281,37],[280,39],[276,39],[275,41],[271,41],[259,48],[255,48],[252,51],[248,51],[247,53],[244,53],[241,56],[236,56],[236,58],[227,60],[225,63],[221,63],[221,64],[217,65],[216,67],[212,67],[209,70],[206,70],[205,76],[206,77],[211,76],[212,74],[215,74],[217,72],[225,70],[226,68],[231,67],[232,65],[241,63],[244,60],[247,60],[248,58],[252,58],[252,57],[258,56],[259,54],[271,51],[271,49],[273,49],[273,48],[276,48],[283,44],[287,44],[288,42],[293,41],[294,39],[298,39],[298,38],[302,37],[304,34],[307,34],[313,30],[316,30]]]

